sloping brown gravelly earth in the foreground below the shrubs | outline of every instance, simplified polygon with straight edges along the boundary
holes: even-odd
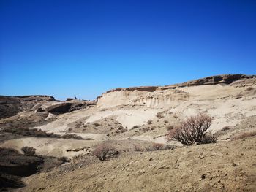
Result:
[[[19,191],[256,191],[256,137],[40,173]]]

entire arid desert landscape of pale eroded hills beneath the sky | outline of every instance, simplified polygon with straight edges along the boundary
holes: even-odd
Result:
[[[256,191],[256,75],[0,96],[0,118],[1,191]]]

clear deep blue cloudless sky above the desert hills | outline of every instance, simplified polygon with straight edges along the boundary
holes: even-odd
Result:
[[[0,95],[256,74],[256,1],[0,0]]]

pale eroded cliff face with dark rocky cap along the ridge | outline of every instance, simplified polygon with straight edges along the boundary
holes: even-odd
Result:
[[[238,80],[256,78],[255,75],[224,74],[205,77],[175,85],[148,86],[133,88],[116,88],[97,98],[97,106],[114,107],[122,104],[141,104],[146,107],[164,107],[173,101],[186,101],[189,93],[182,91],[184,87],[200,85],[229,85]]]

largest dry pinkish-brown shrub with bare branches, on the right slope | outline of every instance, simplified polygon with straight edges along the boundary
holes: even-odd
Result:
[[[213,118],[208,115],[196,115],[181,122],[181,126],[173,128],[167,135],[167,139],[178,139],[183,145],[202,144],[209,140],[207,134]],[[207,137],[207,138],[206,138]],[[213,140],[217,139],[210,135]],[[211,140],[211,139],[210,139]]]

